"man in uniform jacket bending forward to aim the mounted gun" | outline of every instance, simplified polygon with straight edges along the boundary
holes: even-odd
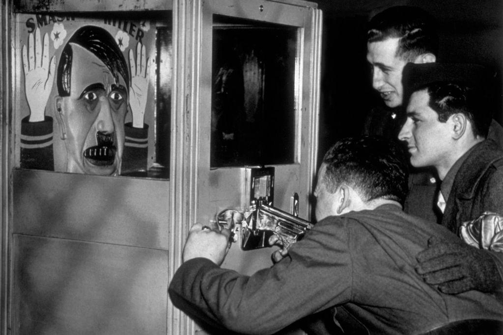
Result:
[[[274,333],[333,306],[340,324],[347,324],[339,319],[344,310],[369,333],[423,333],[473,318],[503,321],[503,304],[490,294],[444,294],[416,274],[415,255],[431,236],[463,242],[404,213],[406,193],[406,158],[395,142],[342,140],[318,171],[318,222],[284,259],[252,276],[222,269],[229,232],[195,224],[170,297],[202,325],[239,333]]]

